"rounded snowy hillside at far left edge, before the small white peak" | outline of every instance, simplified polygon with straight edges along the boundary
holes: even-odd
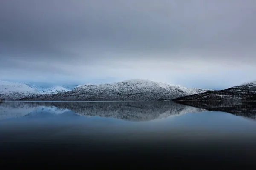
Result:
[[[18,82],[0,80],[0,98],[5,100],[18,100],[23,97],[38,96],[40,93],[35,89]]]

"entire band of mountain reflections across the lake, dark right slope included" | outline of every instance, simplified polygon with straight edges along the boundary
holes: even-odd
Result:
[[[3,102],[0,103],[0,120],[68,111],[87,117],[128,121],[149,121],[203,111],[222,111],[256,119],[256,102]]]

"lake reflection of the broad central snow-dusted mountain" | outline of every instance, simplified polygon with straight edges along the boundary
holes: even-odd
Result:
[[[100,116],[130,121],[148,121],[206,111],[174,102],[45,102],[43,105],[67,108],[87,117]]]

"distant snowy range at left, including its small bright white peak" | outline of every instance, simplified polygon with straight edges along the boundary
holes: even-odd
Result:
[[[39,96],[43,94],[57,94],[70,91],[62,86],[55,85],[44,88],[31,83],[0,81],[0,98],[5,100],[19,100],[24,97]]]

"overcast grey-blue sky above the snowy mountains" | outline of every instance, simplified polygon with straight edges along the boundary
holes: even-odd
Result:
[[[255,21],[255,0],[1,0],[0,79],[230,88],[256,80]]]

